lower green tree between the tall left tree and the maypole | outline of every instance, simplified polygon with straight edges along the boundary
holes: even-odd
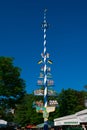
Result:
[[[20,123],[22,126],[26,124],[39,124],[43,122],[43,115],[37,113],[33,108],[33,102],[36,97],[33,94],[26,94],[21,103],[16,108],[15,122]]]

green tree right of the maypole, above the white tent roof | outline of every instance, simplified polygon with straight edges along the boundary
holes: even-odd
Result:
[[[84,91],[76,91],[73,89],[62,90],[59,94],[59,110],[58,116],[66,116],[74,114],[77,111],[83,110],[84,106]]]

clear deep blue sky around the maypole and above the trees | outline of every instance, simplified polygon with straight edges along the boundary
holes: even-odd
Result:
[[[36,90],[43,51],[43,10],[47,8],[47,51],[53,61],[54,89],[84,90],[87,84],[86,0],[0,1],[0,55],[14,57],[26,90]]]

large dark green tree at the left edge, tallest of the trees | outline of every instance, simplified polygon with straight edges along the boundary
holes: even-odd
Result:
[[[13,65],[13,58],[0,57],[0,109],[14,108],[25,94],[21,69]]]

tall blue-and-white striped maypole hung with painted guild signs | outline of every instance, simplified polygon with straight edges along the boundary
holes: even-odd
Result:
[[[49,64],[52,64],[52,61],[49,59],[49,53],[47,53],[46,49],[46,32],[49,27],[46,20],[47,9],[44,10],[44,21],[42,23],[42,29],[44,32],[44,42],[43,42],[43,53],[41,53],[41,60],[39,60],[38,64],[42,64],[40,70],[40,77],[37,82],[37,85],[41,86],[40,89],[34,91],[35,96],[44,96],[43,101],[33,102],[33,107],[36,108],[36,111],[39,113],[43,113],[44,118],[44,130],[48,130],[48,117],[50,112],[55,111],[55,107],[58,105],[56,100],[49,100],[48,96],[56,96],[56,92],[52,89],[54,85],[54,81],[52,80],[51,68]]]

